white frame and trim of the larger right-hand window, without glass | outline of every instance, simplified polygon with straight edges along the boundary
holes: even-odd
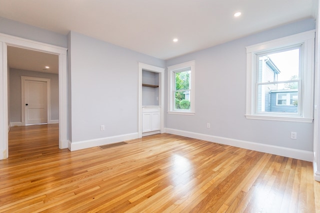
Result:
[[[311,123],[313,121],[313,77],[314,77],[314,36],[315,30],[278,38],[263,43],[246,46],[246,110],[247,119],[294,121]],[[299,114],[256,112],[257,55],[261,52],[302,44],[301,88]]]

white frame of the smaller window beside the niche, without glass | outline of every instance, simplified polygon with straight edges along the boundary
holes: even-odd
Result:
[[[179,70],[190,68],[190,109],[189,110],[175,110],[174,109],[174,91],[175,91],[175,78],[174,73]],[[179,114],[179,115],[194,115],[194,82],[195,82],[195,61],[187,61],[184,63],[168,66],[168,114]]]

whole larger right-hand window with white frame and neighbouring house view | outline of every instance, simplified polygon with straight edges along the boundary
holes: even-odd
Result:
[[[247,46],[248,119],[312,122],[314,30]]]

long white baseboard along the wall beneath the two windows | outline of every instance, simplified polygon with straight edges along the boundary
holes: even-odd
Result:
[[[187,131],[169,129],[169,128],[166,128],[165,132],[169,134],[180,135],[184,137],[195,138],[195,139],[205,140],[209,142],[215,142],[218,144],[224,144],[224,145],[229,145],[233,147],[239,147],[243,149],[264,152],[264,153],[284,156],[288,158],[299,159],[303,161],[309,161],[309,162],[313,161],[313,152],[310,152],[310,151],[272,146],[272,145],[260,144],[260,143],[249,142],[249,141],[241,141],[241,140],[236,140],[231,138],[205,135],[205,134],[200,134],[195,132],[187,132]]]

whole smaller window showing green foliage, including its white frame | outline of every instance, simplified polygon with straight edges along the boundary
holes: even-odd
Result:
[[[194,115],[194,61],[168,67],[168,113]]]

